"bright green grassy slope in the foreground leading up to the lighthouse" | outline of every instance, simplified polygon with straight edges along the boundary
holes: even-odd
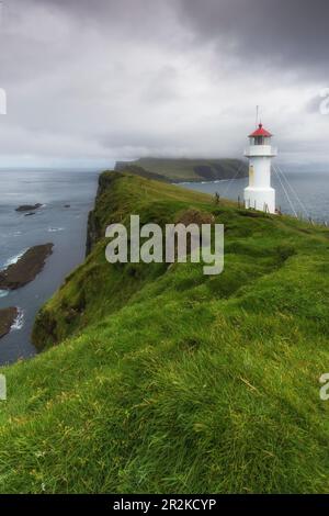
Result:
[[[36,325],[67,339],[1,371],[0,491],[327,492],[328,231],[105,178],[100,227],[212,212],[225,272],[110,266],[101,239]]]

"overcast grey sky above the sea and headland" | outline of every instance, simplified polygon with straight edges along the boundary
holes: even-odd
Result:
[[[1,168],[240,157],[259,104],[281,162],[329,170],[328,0],[4,0],[2,11]]]

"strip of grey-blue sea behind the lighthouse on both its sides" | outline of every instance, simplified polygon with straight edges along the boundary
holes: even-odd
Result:
[[[286,181],[272,177],[276,190],[276,206],[283,213],[297,214],[329,225],[329,172],[284,172]],[[181,186],[237,201],[243,199],[248,178],[212,182],[184,182]]]

